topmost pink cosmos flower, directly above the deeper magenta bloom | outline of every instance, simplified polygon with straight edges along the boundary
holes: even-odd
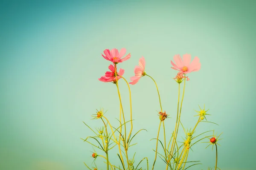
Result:
[[[104,52],[105,56],[102,54],[102,57],[104,57],[108,61],[113,62],[114,64],[117,64],[119,62],[123,62],[123,61],[125,61],[125,60],[127,60],[131,57],[131,54],[129,53],[127,56],[122,58],[126,53],[125,48],[122,48],[120,50],[120,53],[118,53],[118,50],[116,48],[113,48],[111,51],[109,49],[105,49],[103,52]]]

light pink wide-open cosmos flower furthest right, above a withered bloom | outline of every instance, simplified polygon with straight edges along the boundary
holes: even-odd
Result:
[[[177,71],[180,71],[180,73],[188,74],[191,73],[192,71],[198,71],[201,68],[201,63],[199,62],[199,58],[195,57],[193,61],[191,61],[191,55],[190,54],[184,54],[183,55],[183,60],[181,59],[180,55],[177,54],[173,57],[174,62],[171,60],[171,64],[173,67],[172,69],[175,69]]]

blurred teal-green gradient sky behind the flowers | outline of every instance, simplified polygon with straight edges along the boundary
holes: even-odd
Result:
[[[115,85],[99,82],[111,63],[105,48],[126,48],[131,59],[118,66],[133,76],[141,56],[154,77],[166,120],[168,139],[175,125],[177,83],[170,60],[175,54],[198,56],[201,70],[189,74],[182,119],[194,127],[198,104],[209,110],[197,133],[213,130],[223,138],[218,147],[221,170],[255,170],[255,54],[254,0],[35,0],[0,3],[0,169],[84,170],[91,165],[93,147],[80,138],[93,135],[82,123],[100,107],[114,126],[119,115]],[[127,119],[128,89],[120,81]],[[159,119],[155,85],[143,77],[131,86],[136,162],[148,156],[151,167]],[[211,133],[209,133],[211,134]],[[180,136],[184,136],[180,131]],[[163,139],[162,133],[160,136]],[[181,141],[181,140],[180,140]],[[215,150],[198,143],[189,160],[207,170],[215,165]],[[99,151],[98,154],[102,154]],[[105,165],[98,168],[104,170]],[[116,153],[110,156],[118,164]],[[157,159],[156,170],[163,169]],[[103,166],[104,165],[104,166]],[[145,162],[143,163],[145,166]],[[165,166],[164,166],[165,167]]]

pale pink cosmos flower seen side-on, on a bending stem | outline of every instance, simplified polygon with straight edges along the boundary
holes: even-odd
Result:
[[[136,65],[134,68],[135,76],[131,77],[132,82],[129,82],[131,85],[135,85],[140,80],[141,77],[146,75],[145,64],[145,58],[141,57],[139,60],[139,65]]]

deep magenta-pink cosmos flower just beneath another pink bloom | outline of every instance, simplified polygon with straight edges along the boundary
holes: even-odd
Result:
[[[108,66],[110,71],[107,71],[105,73],[105,76],[102,76],[101,78],[99,78],[99,81],[102,82],[113,82],[116,83],[116,76],[115,76],[115,71],[116,68],[111,64]],[[119,72],[117,73],[117,79],[120,79],[123,74],[125,73],[125,70],[120,68]]]

